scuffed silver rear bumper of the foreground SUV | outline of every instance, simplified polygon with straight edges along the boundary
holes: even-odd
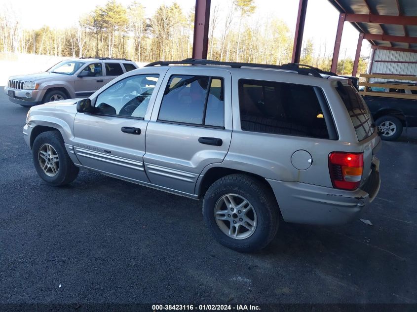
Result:
[[[267,179],[286,222],[337,225],[353,221],[363,213],[379,192],[379,161],[366,183],[355,191]]]

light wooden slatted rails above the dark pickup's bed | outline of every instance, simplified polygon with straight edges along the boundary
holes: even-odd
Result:
[[[384,97],[384,98],[395,98],[395,99],[409,99],[417,100],[417,94],[405,94],[399,92],[384,92],[384,91],[366,91],[367,87],[381,87],[390,89],[404,89],[404,90],[417,90],[417,86],[408,86],[406,84],[386,84],[386,83],[371,83],[370,78],[389,79],[389,80],[405,80],[405,81],[416,81],[416,76],[402,76],[402,75],[384,75],[384,74],[361,74],[361,77],[365,78],[365,82],[359,82],[360,86],[364,86],[364,91],[359,92],[362,96],[373,96],[373,97]]]

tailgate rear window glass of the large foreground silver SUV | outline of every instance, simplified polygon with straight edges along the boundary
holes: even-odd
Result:
[[[359,141],[369,138],[374,133],[372,127],[373,120],[371,112],[366,106],[364,100],[356,92],[353,86],[339,86],[336,88],[346,106],[353,126],[355,127],[356,136]]]

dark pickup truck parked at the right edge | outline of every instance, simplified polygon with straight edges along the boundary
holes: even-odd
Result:
[[[394,83],[396,87],[392,88],[390,84]],[[385,90],[383,87],[367,87],[367,92],[361,93],[374,117],[375,124],[380,128],[381,139],[393,141],[401,136],[403,128],[417,127],[417,90],[407,89],[417,84],[399,81],[388,81],[384,84],[386,84]],[[404,84],[404,89],[399,89],[399,84]],[[366,95],[374,92],[375,95]],[[381,96],[376,96],[376,93]],[[383,93],[401,95],[404,98],[386,97]]]

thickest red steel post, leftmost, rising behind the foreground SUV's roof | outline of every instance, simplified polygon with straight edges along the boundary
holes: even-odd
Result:
[[[192,58],[207,59],[211,0],[195,0]]]

